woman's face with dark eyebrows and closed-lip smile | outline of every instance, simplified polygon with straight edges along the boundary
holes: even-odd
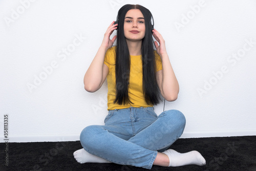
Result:
[[[131,41],[141,40],[145,36],[145,19],[139,9],[129,10],[124,17],[124,36]]]

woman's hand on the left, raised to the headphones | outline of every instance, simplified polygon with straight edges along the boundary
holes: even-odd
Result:
[[[108,29],[106,30],[106,32],[104,34],[104,38],[103,38],[101,46],[103,46],[106,49],[109,49],[113,46],[114,41],[116,40],[116,37],[117,37],[115,35],[112,39],[110,39],[111,34],[114,32],[115,29],[117,29],[118,24],[114,25],[114,23],[115,22],[111,23],[111,25],[108,27]]]

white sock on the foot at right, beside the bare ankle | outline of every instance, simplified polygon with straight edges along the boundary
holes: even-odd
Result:
[[[205,165],[206,161],[198,151],[178,153],[174,149],[167,149],[163,152],[169,157],[169,166],[184,166],[189,164]]]

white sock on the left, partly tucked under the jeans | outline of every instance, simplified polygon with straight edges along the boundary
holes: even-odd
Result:
[[[108,160],[88,153],[83,148],[75,151],[73,155],[78,163],[111,163]]]

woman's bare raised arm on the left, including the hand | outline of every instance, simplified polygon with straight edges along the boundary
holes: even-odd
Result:
[[[112,40],[110,39],[111,34],[117,28],[117,24],[113,24],[114,22],[112,22],[106,30],[102,44],[99,47],[99,50],[95,55],[86,74],[84,75],[84,89],[86,89],[86,91],[88,92],[96,92],[97,90],[99,90],[103,82],[105,81],[106,76],[108,75],[109,68],[104,65],[104,57],[106,51],[112,47],[114,41],[116,40],[116,36],[114,36]]]

